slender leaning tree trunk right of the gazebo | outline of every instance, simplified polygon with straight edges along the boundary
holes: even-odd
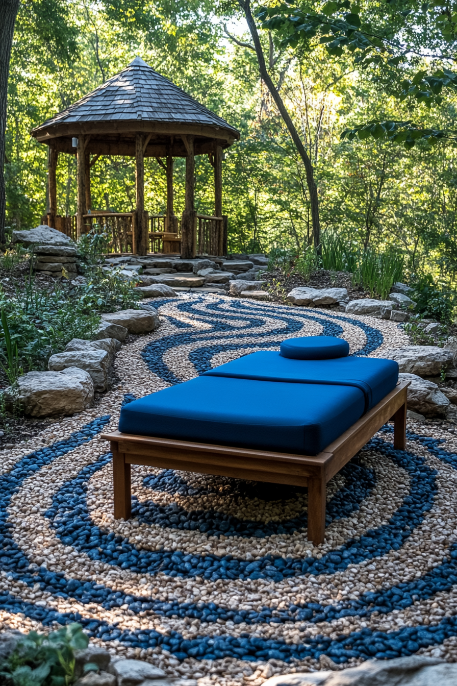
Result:
[[[304,163],[306,171],[306,183],[308,185],[308,190],[310,193],[310,204],[311,204],[311,217],[312,217],[312,237],[314,240],[314,248],[317,250],[318,254],[321,255],[321,225],[319,222],[319,197],[317,195],[317,186],[314,180],[314,170],[312,169],[312,163],[306,152],[305,146],[299,137],[299,133],[295,128],[293,121],[286,110],[284,102],[282,102],[282,97],[277,92],[275,84],[271,80],[271,77],[267,71],[267,64],[265,64],[265,58],[262,50],[262,45],[260,43],[260,38],[258,35],[256,23],[251,12],[250,0],[238,0],[240,8],[242,8],[245,13],[247,25],[249,26],[249,31],[251,32],[254,47],[256,49],[257,61],[259,65],[260,77],[267,85],[271,93],[271,97],[276,103],[278,110],[280,110],[280,115],[284,119],[284,123],[288,128],[288,132],[291,134],[291,139],[293,140],[295,147],[297,148],[299,155]]]

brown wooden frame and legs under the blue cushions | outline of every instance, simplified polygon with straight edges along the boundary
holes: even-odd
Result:
[[[114,482],[114,517],[131,516],[130,465],[308,486],[308,539],[322,543],[325,536],[325,502],[328,481],[370,440],[389,419],[394,422],[393,447],[405,449],[406,399],[410,381],[398,383],[378,405],[317,456],[290,455],[264,450],[209,445],[170,438],[131,436],[114,431],[103,434],[111,442]]]

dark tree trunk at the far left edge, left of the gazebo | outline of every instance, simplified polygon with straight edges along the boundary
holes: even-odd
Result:
[[[0,2],[0,243],[5,243],[6,193],[5,176],[5,132],[6,102],[8,97],[8,73],[10,71],[11,46],[14,22],[19,9],[19,0]]]

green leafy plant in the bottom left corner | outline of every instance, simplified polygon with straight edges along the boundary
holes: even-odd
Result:
[[[48,635],[31,631],[0,663],[5,686],[68,686],[74,680],[75,650],[88,645],[80,624],[69,624]]]

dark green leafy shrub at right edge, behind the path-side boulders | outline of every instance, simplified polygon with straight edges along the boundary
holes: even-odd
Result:
[[[430,274],[412,284],[411,299],[417,303],[415,311],[424,318],[434,318],[449,324],[455,318],[457,294],[445,283],[434,282]]]

